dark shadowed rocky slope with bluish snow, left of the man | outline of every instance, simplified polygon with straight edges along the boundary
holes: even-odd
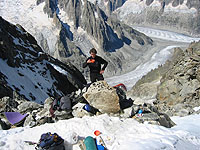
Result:
[[[52,58],[20,25],[0,17],[0,97],[16,91],[28,100],[42,103],[82,88],[86,81],[71,64]]]

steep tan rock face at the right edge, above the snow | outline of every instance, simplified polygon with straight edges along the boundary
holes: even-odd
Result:
[[[159,109],[185,116],[200,106],[200,43],[192,43],[176,64],[162,77],[158,87]],[[168,111],[170,110],[170,111]]]

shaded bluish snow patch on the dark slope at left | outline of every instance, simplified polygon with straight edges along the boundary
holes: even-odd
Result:
[[[47,62],[43,61],[43,64],[45,63]],[[35,97],[37,103],[44,102],[49,97],[47,94],[49,88],[52,87],[57,91],[53,85],[55,80],[51,78],[47,68],[40,63],[23,65],[22,68],[12,68],[0,59],[0,68],[1,72],[7,76],[6,81],[13,90],[16,90],[15,88],[19,89],[20,93],[28,99]]]

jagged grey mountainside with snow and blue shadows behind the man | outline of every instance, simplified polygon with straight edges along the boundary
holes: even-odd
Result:
[[[0,6],[2,17],[22,25],[45,52],[82,72],[92,47],[109,61],[105,74],[110,76],[133,69],[153,45],[152,39],[86,0],[2,0]]]

